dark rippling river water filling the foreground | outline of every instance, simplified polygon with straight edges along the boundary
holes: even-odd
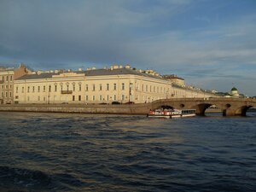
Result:
[[[256,191],[256,113],[1,112],[0,191]]]

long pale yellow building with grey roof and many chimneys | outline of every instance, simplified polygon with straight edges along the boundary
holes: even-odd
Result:
[[[76,72],[38,72],[15,80],[15,103],[144,103],[186,96],[213,94],[173,86],[158,73],[129,65]]]

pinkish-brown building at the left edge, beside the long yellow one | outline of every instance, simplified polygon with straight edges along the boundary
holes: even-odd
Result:
[[[0,69],[0,103],[11,104],[14,102],[14,80],[31,73],[25,65],[20,64],[18,68]]]

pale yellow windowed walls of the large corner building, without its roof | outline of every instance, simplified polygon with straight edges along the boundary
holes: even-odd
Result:
[[[172,84],[133,74],[55,74],[50,79],[15,81],[15,103],[152,102],[171,96]]]

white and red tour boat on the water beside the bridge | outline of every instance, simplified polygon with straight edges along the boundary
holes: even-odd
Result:
[[[150,110],[147,114],[152,118],[181,118],[181,117],[193,117],[195,116],[195,109],[155,109]]]

